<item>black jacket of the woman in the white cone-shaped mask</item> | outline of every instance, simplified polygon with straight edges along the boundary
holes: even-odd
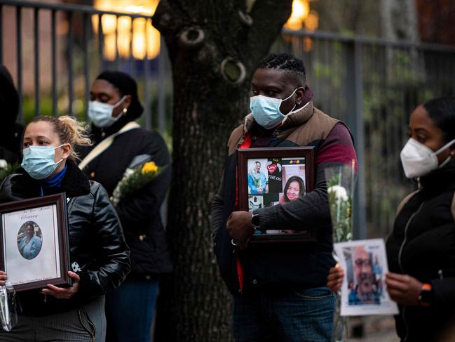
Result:
[[[428,308],[403,307],[395,316],[402,341],[435,341],[455,320],[455,161],[421,178],[422,188],[395,218],[387,241],[391,272],[432,284]]]

